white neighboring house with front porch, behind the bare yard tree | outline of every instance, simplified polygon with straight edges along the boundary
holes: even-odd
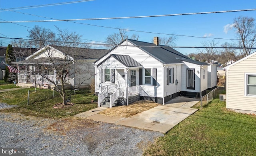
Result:
[[[108,50],[74,48],[74,51],[70,51],[72,54],[76,53],[76,58],[73,58],[70,56],[65,56],[65,54],[62,53],[61,49],[66,48],[68,47],[47,45],[32,55],[26,57],[23,61],[13,62],[14,64],[18,65],[18,70],[20,71],[20,73],[18,73],[18,85],[53,85],[53,83],[43,78],[41,75],[32,74],[34,71],[36,71],[35,65],[38,64],[42,65],[42,69],[37,69],[41,70],[39,72],[43,73],[43,75],[47,75],[48,78],[59,84],[60,79],[58,78],[58,75],[56,75],[56,69],[52,69],[52,65],[49,61],[49,59],[52,59],[52,61],[56,64],[74,61],[70,67],[71,69],[68,71],[70,75],[68,75],[68,78],[65,81],[66,86],[73,88],[89,87],[91,83],[94,83],[93,62],[108,52]],[[75,70],[78,72],[74,72]],[[90,72],[84,72],[85,70]]]

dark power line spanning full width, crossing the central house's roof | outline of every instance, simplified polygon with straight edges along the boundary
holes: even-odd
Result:
[[[24,39],[24,38],[8,38],[6,37],[0,37],[3,39]],[[40,41],[38,39],[24,39],[29,41]],[[102,43],[83,43],[83,42],[66,42],[66,41],[50,41],[50,40],[44,40],[49,42],[60,42],[60,43],[79,43],[79,44],[89,44],[89,45],[104,45],[104,46],[122,46],[122,47],[170,47],[165,45],[158,45],[158,46],[147,46],[147,45],[113,45],[113,44],[102,44]],[[172,46],[172,48],[212,48],[212,49],[256,49],[256,47],[198,47],[198,46]]]

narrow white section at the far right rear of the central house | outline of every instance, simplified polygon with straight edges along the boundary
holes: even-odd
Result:
[[[212,90],[217,86],[217,66],[215,63],[208,63],[207,74],[208,74],[208,82],[207,87],[208,90]]]

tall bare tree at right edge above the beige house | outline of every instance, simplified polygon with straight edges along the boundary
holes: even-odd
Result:
[[[245,57],[253,52],[253,49],[249,49],[256,45],[256,25],[254,18],[239,16],[234,19],[234,27],[236,30],[236,36],[239,39],[238,45],[243,47],[240,50],[240,55]]]

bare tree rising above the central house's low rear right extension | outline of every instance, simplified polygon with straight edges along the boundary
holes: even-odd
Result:
[[[202,58],[202,61],[207,61],[208,63],[211,63],[212,60],[216,59],[216,54],[218,54],[218,49],[214,48],[216,47],[216,43],[214,40],[212,41],[204,41],[202,42],[203,47],[207,47],[204,49],[198,49],[199,55]]]

